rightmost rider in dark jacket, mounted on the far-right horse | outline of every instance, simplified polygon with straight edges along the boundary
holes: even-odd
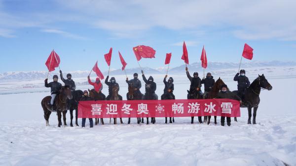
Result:
[[[238,90],[238,96],[243,99],[245,90],[248,86],[250,86],[249,78],[246,76],[246,71],[244,69],[241,69],[239,73],[237,73],[234,78],[234,81],[237,81],[237,90]]]

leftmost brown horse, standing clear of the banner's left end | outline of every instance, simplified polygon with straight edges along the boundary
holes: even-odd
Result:
[[[51,96],[46,96],[41,100],[41,106],[44,112],[44,119],[46,121],[46,126],[49,126],[48,119],[51,112],[57,112],[58,115],[58,127],[60,128],[62,125],[62,112],[63,112],[63,120],[64,126],[67,126],[66,123],[66,112],[67,112],[67,99],[72,99],[72,94],[69,86],[62,86],[59,94],[55,97],[54,100],[54,111],[50,109],[49,102],[51,100]]]

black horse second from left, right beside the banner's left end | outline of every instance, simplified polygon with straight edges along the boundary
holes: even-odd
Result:
[[[78,119],[78,101],[81,99],[83,95],[83,92],[81,90],[76,90],[72,92],[72,100],[68,100],[68,109],[70,110],[70,118],[71,123],[70,126],[73,127],[73,110],[75,110],[75,125],[78,125],[77,119]],[[67,110],[66,110],[67,113]]]

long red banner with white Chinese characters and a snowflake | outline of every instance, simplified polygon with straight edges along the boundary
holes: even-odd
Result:
[[[240,117],[240,102],[199,100],[90,100],[79,101],[78,118]]]

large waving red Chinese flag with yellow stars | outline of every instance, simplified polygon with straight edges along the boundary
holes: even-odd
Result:
[[[137,61],[140,61],[142,58],[155,58],[155,50],[149,46],[138,45],[133,48],[136,55]]]

